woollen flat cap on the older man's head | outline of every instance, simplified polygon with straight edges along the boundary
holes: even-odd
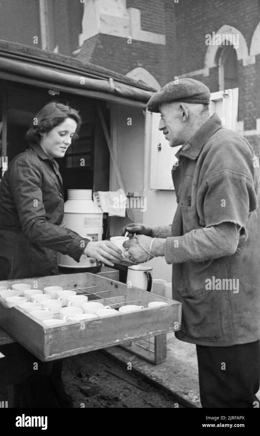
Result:
[[[147,103],[150,112],[160,112],[162,103],[183,102],[210,104],[210,90],[198,80],[183,78],[178,82],[169,82],[152,95]]]

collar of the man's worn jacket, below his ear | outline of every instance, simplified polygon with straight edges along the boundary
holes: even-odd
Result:
[[[221,129],[222,124],[217,113],[214,113],[206,123],[204,123],[200,129],[177,151],[176,157],[185,156],[190,159],[197,159],[203,145],[207,142],[210,136],[217,130]]]

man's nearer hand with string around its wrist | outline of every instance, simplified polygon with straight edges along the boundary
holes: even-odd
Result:
[[[153,238],[150,238],[149,236],[140,235],[134,236],[129,241],[125,241],[123,243],[123,247],[128,248],[127,252],[125,253],[125,257],[128,257],[131,262],[136,264],[147,262],[149,257],[147,252],[149,252],[152,239]],[[147,252],[139,245],[139,243],[143,245]],[[150,259],[152,259],[152,257],[153,256],[150,256]]]

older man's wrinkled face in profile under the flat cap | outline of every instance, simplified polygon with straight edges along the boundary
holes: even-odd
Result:
[[[183,135],[185,123],[183,123],[181,116],[180,103],[162,103],[159,109],[161,114],[159,130],[163,131],[170,147],[183,145],[185,142]]]

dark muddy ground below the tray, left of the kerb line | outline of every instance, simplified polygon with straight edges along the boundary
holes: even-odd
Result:
[[[63,381],[74,408],[183,407],[127,366],[98,351],[64,359]]]

